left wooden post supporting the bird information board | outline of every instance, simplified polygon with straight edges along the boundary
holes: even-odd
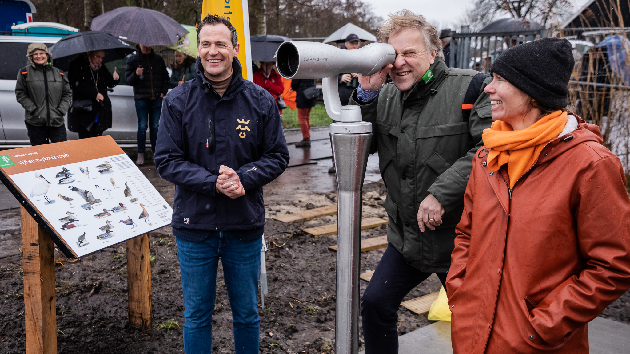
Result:
[[[54,245],[26,209],[20,209],[26,354],[56,354]]]

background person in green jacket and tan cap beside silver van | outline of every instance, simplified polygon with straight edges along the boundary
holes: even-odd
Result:
[[[31,145],[66,141],[64,115],[72,100],[67,77],[52,66],[52,55],[44,43],[31,43],[26,49],[30,65],[20,69],[15,96],[24,107]]]

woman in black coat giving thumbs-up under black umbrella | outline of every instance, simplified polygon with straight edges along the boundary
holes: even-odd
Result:
[[[72,88],[72,105],[68,111],[68,129],[79,133],[79,139],[100,137],[112,127],[112,102],[107,88],[118,84],[118,73],[113,75],[103,65],[105,50],[93,50],[70,64],[68,79]]]

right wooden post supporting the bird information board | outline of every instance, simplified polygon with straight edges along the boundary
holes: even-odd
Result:
[[[149,234],[127,240],[127,288],[129,325],[149,331],[153,327]]]

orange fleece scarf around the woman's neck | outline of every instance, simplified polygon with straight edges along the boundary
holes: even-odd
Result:
[[[536,163],[547,142],[562,132],[568,120],[566,116],[566,111],[557,110],[523,130],[513,130],[510,124],[496,120],[481,135],[484,145],[490,148],[488,169],[498,171],[508,164],[512,189],[518,178]]]

